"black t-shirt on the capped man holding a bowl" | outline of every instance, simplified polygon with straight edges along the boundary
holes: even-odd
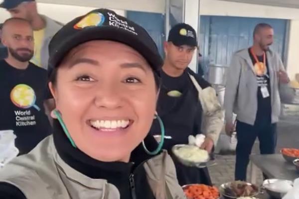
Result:
[[[163,121],[165,135],[172,139],[164,140],[163,148],[171,150],[175,144],[187,144],[189,135],[201,133],[202,107],[198,100],[198,91],[189,74],[193,75],[204,89],[209,84],[199,75],[187,68],[179,77],[170,77],[161,71],[162,85],[157,102],[157,113]],[[171,92],[175,91],[174,95]],[[157,120],[153,120],[150,129],[152,135],[160,134]]]

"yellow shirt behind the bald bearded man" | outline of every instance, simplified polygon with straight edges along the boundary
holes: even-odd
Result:
[[[41,67],[41,48],[43,43],[43,38],[45,34],[45,28],[33,31],[34,36],[34,55],[30,60],[35,65]]]

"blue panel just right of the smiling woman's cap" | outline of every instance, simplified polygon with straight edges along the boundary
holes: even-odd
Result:
[[[150,12],[127,11],[127,17],[143,26],[149,32],[149,35],[155,41],[161,56],[163,56],[163,42],[165,41],[164,15]]]

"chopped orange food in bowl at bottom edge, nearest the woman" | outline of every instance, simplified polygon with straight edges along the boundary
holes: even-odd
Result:
[[[216,187],[203,184],[184,185],[183,191],[187,199],[219,199],[220,194]]]

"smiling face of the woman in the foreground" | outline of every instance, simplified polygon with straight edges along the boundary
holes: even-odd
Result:
[[[128,162],[153,120],[153,76],[146,59],[125,44],[93,40],[73,48],[50,89],[76,146],[98,160]]]

